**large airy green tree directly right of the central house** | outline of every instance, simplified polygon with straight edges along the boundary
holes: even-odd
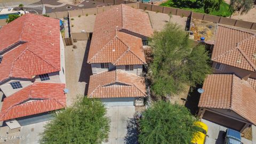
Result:
[[[154,57],[149,65],[153,94],[165,97],[180,92],[185,85],[203,83],[211,73],[210,58],[204,45],[193,44],[177,24],[167,23],[163,31],[154,33],[149,41]]]

